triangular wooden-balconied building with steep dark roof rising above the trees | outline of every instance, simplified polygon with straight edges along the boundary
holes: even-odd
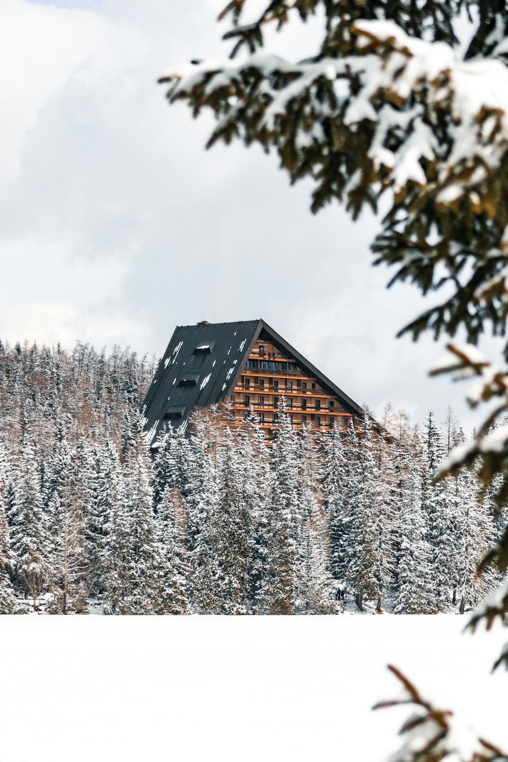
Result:
[[[249,405],[265,439],[276,435],[281,398],[292,424],[356,423],[363,410],[264,320],[177,326],[143,405],[153,446],[166,421],[184,424],[195,408],[230,402],[232,423]]]

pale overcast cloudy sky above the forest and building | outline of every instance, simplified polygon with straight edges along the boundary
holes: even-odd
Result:
[[[0,337],[129,344],[161,355],[175,325],[263,318],[356,402],[414,422],[465,389],[427,371],[443,345],[395,340],[421,308],[372,268],[378,223],[308,211],[256,146],[206,152],[209,117],[169,107],[175,63],[225,57],[223,0],[2,0]],[[319,23],[270,37],[299,59]]]

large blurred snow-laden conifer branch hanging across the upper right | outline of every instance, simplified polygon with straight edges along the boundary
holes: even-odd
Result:
[[[475,342],[486,322],[503,332],[508,69],[494,58],[462,60],[390,20],[356,19],[334,44],[332,27],[313,59],[291,63],[257,45],[241,62],[180,66],[159,82],[194,116],[212,110],[208,146],[259,142],[278,152],[293,182],[310,176],[314,212],[336,199],[356,218],[391,191],[375,264],[394,265],[391,283],[409,279],[423,293],[454,288],[407,326],[414,338],[426,329],[454,335],[462,324]]]

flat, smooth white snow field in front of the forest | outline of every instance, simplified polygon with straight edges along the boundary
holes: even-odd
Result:
[[[508,748],[508,631],[464,616],[5,616],[0,762],[376,762],[394,663]]]

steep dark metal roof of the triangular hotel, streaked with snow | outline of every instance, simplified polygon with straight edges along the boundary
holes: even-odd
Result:
[[[263,320],[179,325],[145,397],[142,413],[149,442],[154,443],[166,421],[174,420],[174,425],[179,425],[193,408],[225,400],[236,386],[257,338],[270,341],[294,358],[303,371],[315,376],[324,389],[337,396],[348,411],[363,413],[356,402]],[[209,347],[209,351],[203,347]]]

